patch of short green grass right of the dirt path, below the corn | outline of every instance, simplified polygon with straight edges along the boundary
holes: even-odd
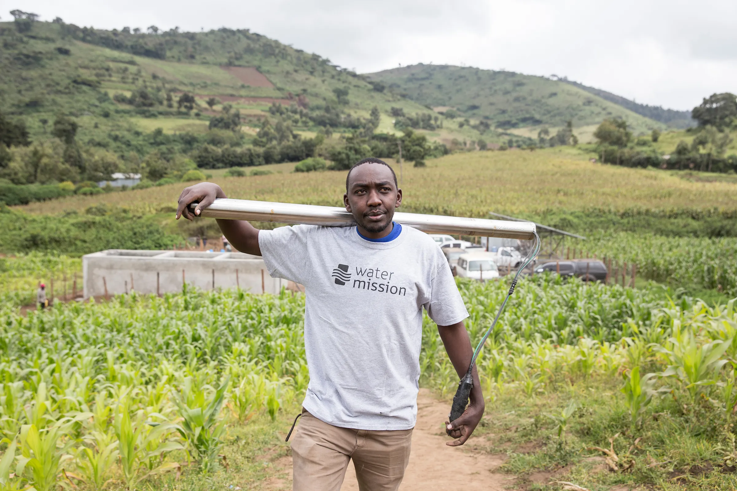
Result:
[[[673,398],[655,400],[643,428],[637,434],[622,431],[626,407],[619,394],[620,381],[595,376],[588,380],[552,386],[545,394],[527,398],[509,389],[486,404],[475,444],[481,451],[506,453],[501,470],[518,476],[514,484],[533,490],[559,490],[551,481],[573,482],[590,490],[614,487],[662,490],[733,490],[734,473],[722,472],[711,462],[719,461],[716,449],[721,428],[710,428],[699,417],[709,408],[687,407]],[[564,445],[545,414],[560,411],[570,400],[581,408],[573,414]],[[711,434],[710,432],[714,433]],[[632,459],[629,472],[610,472],[602,462],[606,455],[591,447],[609,448],[614,439],[620,459]],[[635,439],[641,438],[636,444]],[[617,488],[619,489],[619,488]]]

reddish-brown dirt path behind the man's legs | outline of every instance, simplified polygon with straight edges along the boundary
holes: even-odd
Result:
[[[494,473],[494,470],[504,462],[505,455],[474,452],[473,437],[462,448],[445,445],[448,438],[444,435],[443,422],[448,415],[448,409],[446,402],[436,400],[429,391],[420,389],[417,398],[417,425],[412,434],[412,454],[399,489],[440,491],[463,487],[467,491],[509,490],[514,485],[514,478]],[[290,460],[282,460],[285,467],[281,472],[291,474]],[[279,480],[279,484],[271,489],[278,487],[291,489],[291,482]],[[356,473],[353,464],[349,464],[340,491],[357,490]]]

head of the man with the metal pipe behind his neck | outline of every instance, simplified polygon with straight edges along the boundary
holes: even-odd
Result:
[[[343,202],[363,230],[380,233],[391,224],[394,208],[402,204],[402,190],[387,166],[363,163],[351,172]]]

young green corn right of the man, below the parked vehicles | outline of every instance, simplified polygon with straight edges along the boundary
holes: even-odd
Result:
[[[507,289],[506,282],[461,283],[472,342],[483,336]],[[423,336],[422,383],[453,395],[458,376],[428,319]],[[479,356],[478,370],[484,394],[492,401],[507,391],[534,397],[562,381],[593,376],[625,373],[629,381],[635,369],[652,370],[650,384],[657,380],[657,389],[684,390],[695,398],[714,397],[728,384],[734,377],[724,365],[737,364],[736,357],[733,301],[710,307],[688,297],[670,300],[658,289],[545,275],[525,280],[515,290]],[[727,412],[736,403],[737,389],[722,401]]]

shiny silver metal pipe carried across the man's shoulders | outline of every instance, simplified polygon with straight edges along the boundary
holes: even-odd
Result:
[[[196,208],[197,203],[190,207]],[[287,224],[324,225],[326,227],[352,227],[353,215],[345,208],[333,206],[296,205],[251,201],[248,199],[215,199],[200,216],[206,218],[251,220]],[[532,222],[508,222],[463,216],[423,215],[420,213],[394,213],[394,221],[427,233],[453,233],[461,236],[503,237],[531,240],[536,231]]]

